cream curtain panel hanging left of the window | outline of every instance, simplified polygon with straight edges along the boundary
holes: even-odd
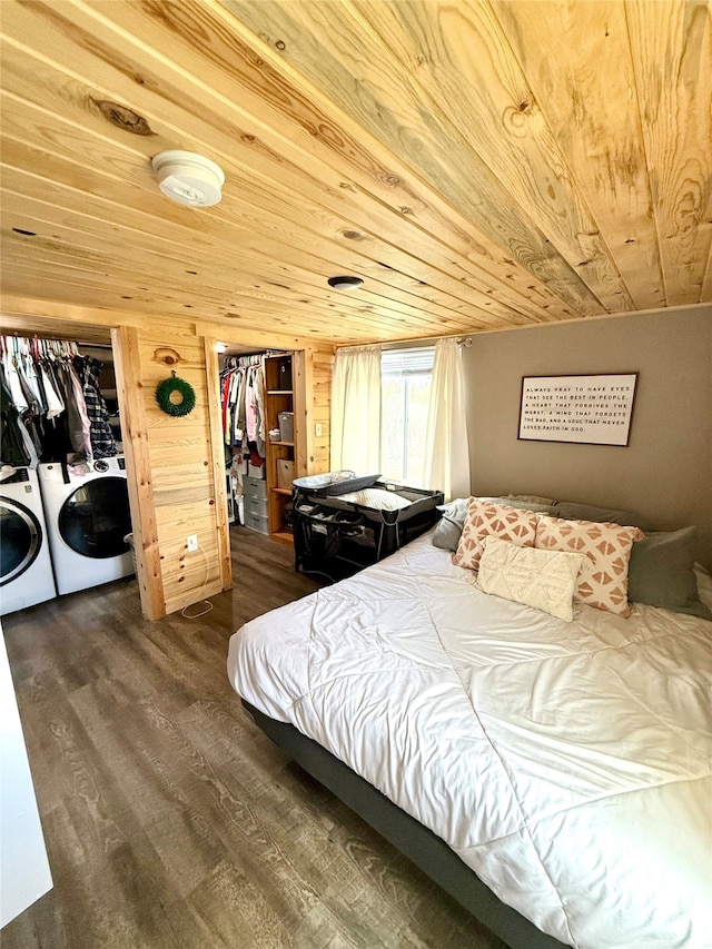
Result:
[[[332,471],[380,464],[380,346],[338,349],[332,383]]]

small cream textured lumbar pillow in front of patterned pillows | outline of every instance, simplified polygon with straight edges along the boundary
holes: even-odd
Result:
[[[520,547],[501,537],[485,537],[476,586],[525,606],[571,622],[573,599],[584,554]],[[544,554],[544,556],[542,556]]]

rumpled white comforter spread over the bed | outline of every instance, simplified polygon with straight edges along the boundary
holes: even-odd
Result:
[[[563,943],[712,947],[712,623],[566,623],[427,534],[245,625],[228,674]]]

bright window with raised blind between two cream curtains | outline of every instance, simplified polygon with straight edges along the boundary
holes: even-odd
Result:
[[[434,346],[386,349],[380,356],[380,472],[423,484]]]

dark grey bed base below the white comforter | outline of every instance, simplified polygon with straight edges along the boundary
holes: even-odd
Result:
[[[439,837],[294,725],[278,722],[244,699],[255,723],[297,764],[336,794],[511,949],[565,949],[503,903]]]

